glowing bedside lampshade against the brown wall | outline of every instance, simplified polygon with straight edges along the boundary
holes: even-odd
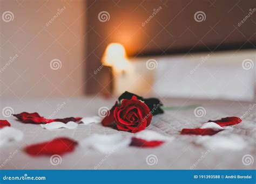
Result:
[[[102,63],[116,70],[125,70],[128,66],[127,55],[122,44],[109,44],[103,54]]]

